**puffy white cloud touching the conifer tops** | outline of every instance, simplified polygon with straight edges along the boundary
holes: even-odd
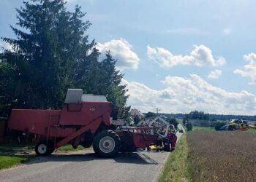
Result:
[[[125,39],[111,40],[104,44],[98,43],[97,50],[101,52],[100,59],[105,58],[105,52],[110,50],[113,58],[117,60],[116,66],[120,69],[138,69],[140,59],[133,51],[132,45]]]

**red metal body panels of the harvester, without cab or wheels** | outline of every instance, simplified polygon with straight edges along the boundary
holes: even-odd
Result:
[[[9,128],[46,138],[64,138],[57,143],[59,147],[85,131],[96,132],[100,123],[110,125],[110,113],[110,103],[107,102],[69,103],[62,110],[13,109]],[[69,127],[72,125],[82,127],[76,130]]]

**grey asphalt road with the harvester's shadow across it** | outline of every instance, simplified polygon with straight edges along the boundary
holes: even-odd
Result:
[[[169,154],[138,151],[106,159],[95,157],[90,149],[75,154],[53,153],[51,157],[39,157],[29,164],[1,171],[0,181],[157,181]]]

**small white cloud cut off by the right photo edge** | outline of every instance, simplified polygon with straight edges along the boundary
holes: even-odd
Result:
[[[256,84],[256,54],[250,53],[244,55],[244,60],[249,61],[249,63],[244,66],[244,70],[236,69],[234,73],[251,79],[249,84]]]

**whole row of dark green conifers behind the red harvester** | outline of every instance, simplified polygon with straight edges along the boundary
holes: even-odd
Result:
[[[0,54],[0,116],[11,108],[61,108],[68,88],[108,95],[119,116],[129,111],[124,74],[110,52],[99,60],[97,42],[89,41],[86,13],[64,0],[29,0],[16,9],[16,38],[1,37],[12,47]]]

